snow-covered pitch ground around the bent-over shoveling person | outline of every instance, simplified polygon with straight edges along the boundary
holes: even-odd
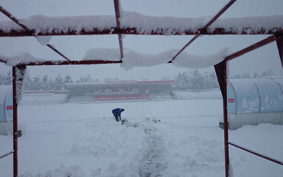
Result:
[[[111,109],[124,108],[124,125]],[[20,177],[225,176],[222,100],[19,106]],[[149,119],[147,119],[149,118]],[[157,123],[154,123],[154,119]],[[160,120],[160,122],[158,121]],[[229,131],[229,140],[283,161],[283,126],[260,124]],[[0,135],[0,154],[12,136]],[[234,176],[283,176],[283,166],[230,146]],[[12,155],[0,159],[12,176]]]

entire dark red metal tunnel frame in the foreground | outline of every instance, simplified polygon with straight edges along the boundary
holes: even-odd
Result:
[[[20,71],[24,73],[24,70],[26,66],[32,66],[32,65],[91,65],[91,64],[110,64],[110,63],[122,63],[123,58],[123,47],[122,47],[122,40],[121,35],[167,35],[164,34],[161,30],[160,31],[151,31],[147,34],[144,34],[137,30],[136,28],[121,28],[120,27],[120,12],[119,12],[119,0],[113,0],[114,1],[114,8],[115,8],[115,17],[116,17],[116,27],[110,28],[110,29],[97,29],[93,28],[91,31],[82,29],[79,33],[74,31],[73,29],[69,29],[66,31],[61,31],[58,29],[53,30],[45,30],[36,32],[36,30],[29,30],[25,25],[20,24],[18,19],[15,18],[13,15],[11,15],[8,11],[6,11],[2,6],[0,6],[0,11],[5,14],[7,17],[9,17],[11,20],[13,20],[15,23],[17,23],[20,27],[22,27],[23,30],[11,30],[9,32],[6,32],[4,30],[0,29],[0,37],[20,37],[20,36],[60,36],[60,35],[118,35],[119,40],[119,47],[120,47],[120,54],[121,54],[121,60],[119,61],[108,61],[108,60],[83,60],[83,61],[71,61],[68,59],[65,55],[60,53],[58,50],[56,50],[51,45],[47,44],[47,47],[54,50],[56,53],[61,55],[63,58],[65,58],[67,61],[60,61],[60,62],[52,62],[52,61],[44,61],[44,62],[30,62],[30,63],[24,63],[24,64],[18,64],[16,66],[13,66],[12,72],[13,72],[13,150],[9,153],[6,153],[5,155],[2,155],[0,158],[5,157],[11,153],[13,153],[13,168],[14,168],[14,177],[17,177],[18,175],[18,144],[17,144],[17,95],[19,94],[19,88],[17,87],[17,83],[22,80],[21,77],[17,76],[16,71]],[[227,69],[226,69],[226,62],[230,61],[234,58],[237,58],[241,55],[244,55],[245,53],[248,53],[252,50],[255,50],[259,47],[262,47],[264,45],[267,45],[271,42],[274,42],[276,40],[277,47],[279,51],[280,60],[283,67],[283,29],[282,28],[274,28],[273,30],[257,30],[257,31],[250,31],[248,29],[243,30],[240,34],[236,31],[226,31],[224,28],[218,28],[215,27],[213,30],[208,30],[208,27],[215,22],[218,17],[223,14],[236,0],[230,0],[226,6],[224,6],[203,28],[199,28],[198,30],[186,30],[185,32],[175,32],[171,35],[195,35],[192,40],[190,40],[182,49],[172,58],[174,60],[188,45],[190,45],[195,39],[197,39],[200,35],[272,35],[264,40],[261,40],[249,47],[244,48],[243,50],[240,50],[236,53],[233,53],[229,56],[227,56],[222,62],[214,65],[215,72],[218,78],[218,83],[221,89],[221,93],[223,95],[223,119],[224,119],[224,152],[225,152],[225,175],[226,177],[229,176],[229,144],[233,145],[237,148],[240,148],[242,150],[246,150],[247,152],[253,153],[255,155],[258,155],[260,157],[263,157],[265,159],[271,160],[275,163],[283,165],[282,162],[279,160],[275,160],[269,157],[266,157],[264,155],[261,155],[259,153],[256,153],[252,150],[248,150],[246,148],[243,148],[239,145],[235,145],[228,141],[228,115],[227,115]],[[36,34],[36,35],[35,35]],[[172,60],[167,63],[172,63]],[[0,58],[0,62],[7,63],[4,58]]]

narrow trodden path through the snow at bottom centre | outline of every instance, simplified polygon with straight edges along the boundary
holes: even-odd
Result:
[[[167,168],[165,160],[166,149],[162,135],[156,132],[156,128],[145,128],[144,132],[149,135],[149,151],[147,156],[142,158],[139,166],[140,177],[163,176]]]

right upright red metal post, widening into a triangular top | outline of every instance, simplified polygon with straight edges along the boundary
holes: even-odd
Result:
[[[228,145],[228,114],[227,114],[227,68],[226,62],[222,61],[214,65],[215,73],[223,96],[223,119],[224,119],[224,154],[225,175],[229,176],[229,145]]]

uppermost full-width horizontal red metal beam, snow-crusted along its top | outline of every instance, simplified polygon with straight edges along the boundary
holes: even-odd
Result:
[[[59,29],[53,29],[50,31],[44,31],[37,34],[37,36],[78,36],[78,35],[144,35],[143,33],[139,33],[136,31],[135,28],[121,28],[120,30],[117,30],[116,27],[113,27],[111,29],[114,30],[99,30],[96,28],[93,28],[93,31],[85,31],[84,29],[81,30],[81,32],[78,34],[76,31],[69,30],[68,32],[62,32]],[[55,31],[60,32],[55,32]],[[248,30],[248,29],[246,29]],[[243,30],[241,34],[238,34],[237,32],[226,32],[224,28],[215,28],[211,30],[203,30],[198,29],[197,31],[185,31],[184,33],[175,33],[174,35],[274,35],[274,34],[283,34],[283,29],[276,29],[265,31],[264,29],[256,32],[249,32],[247,33],[246,30]],[[35,33],[36,30],[31,31],[15,31],[11,30],[11,32],[5,32],[3,30],[0,30],[0,37],[24,37],[24,36],[33,36],[33,33]],[[167,35],[162,33],[162,30],[157,30],[159,32],[150,32],[150,35]]]

